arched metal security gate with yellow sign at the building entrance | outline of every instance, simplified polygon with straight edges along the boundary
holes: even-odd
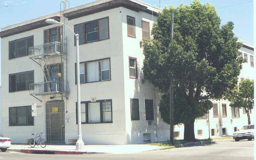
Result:
[[[46,103],[46,133],[48,143],[65,142],[64,101],[54,100]]]

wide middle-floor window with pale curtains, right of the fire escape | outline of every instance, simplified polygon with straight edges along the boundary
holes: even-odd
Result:
[[[80,83],[111,80],[110,58],[81,62],[79,68]]]

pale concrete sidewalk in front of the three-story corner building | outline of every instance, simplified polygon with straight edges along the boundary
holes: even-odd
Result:
[[[84,145],[83,150],[77,151],[76,145],[46,145],[41,148],[36,145],[34,148],[27,144],[12,144],[7,151],[16,151],[30,154],[125,154],[125,153],[139,153],[143,151],[151,151],[164,147],[138,144],[138,145]]]

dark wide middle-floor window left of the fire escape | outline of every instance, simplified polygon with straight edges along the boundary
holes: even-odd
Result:
[[[29,90],[29,84],[34,83],[34,71],[9,74],[9,92]]]

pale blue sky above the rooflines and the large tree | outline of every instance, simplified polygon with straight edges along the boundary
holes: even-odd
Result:
[[[60,11],[61,0],[0,0],[0,28],[31,20]],[[70,8],[96,0],[69,0]],[[192,0],[141,0],[150,5],[160,7],[189,5]],[[253,0],[199,0],[210,3],[221,18],[221,24],[228,21],[234,23],[235,36],[253,44]],[[0,44],[0,50],[1,50]],[[5,46],[6,47],[6,46]]]

